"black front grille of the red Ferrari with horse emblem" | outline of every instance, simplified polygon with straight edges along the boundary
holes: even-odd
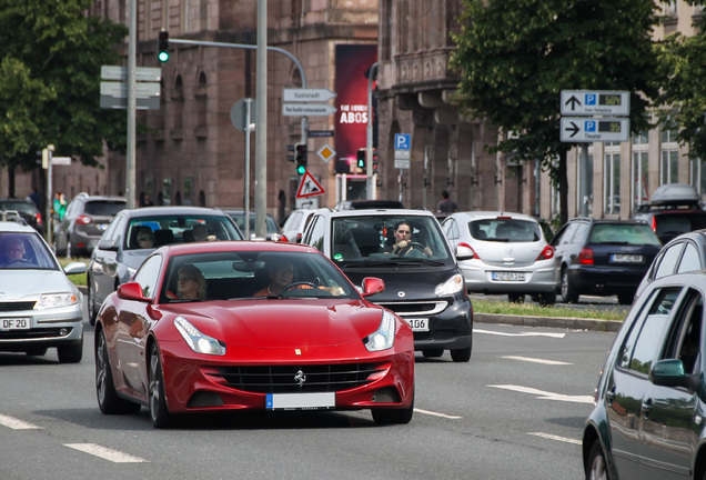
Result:
[[[334,392],[369,383],[384,363],[221,367],[225,386],[255,393]],[[304,379],[304,381],[302,381]]]

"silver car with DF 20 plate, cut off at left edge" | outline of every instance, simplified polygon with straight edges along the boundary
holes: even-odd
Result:
[[[56,347],[61,363],[83,353],[83,299],[67,274],[85,273],[85,263],[61,268],[31,227],[0,222],[0,351],[42,356]]]

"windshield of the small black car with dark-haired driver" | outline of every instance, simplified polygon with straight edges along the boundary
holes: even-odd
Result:
[[[335,217],[331,229],[331,258],[339,264],[405,264],[401,259],[454,262],[441,228],[431,216]]]

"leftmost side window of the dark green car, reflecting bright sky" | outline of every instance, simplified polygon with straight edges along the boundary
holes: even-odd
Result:
[[[680,292],[679,288],[667,288],[650,296],[655,299],[654,302],[649,309],[639,313],[639,318],[635,320],[631,332],[621,346],[618,368],[644,374],[649,373],[652,362],[662,346],[662,332]]]

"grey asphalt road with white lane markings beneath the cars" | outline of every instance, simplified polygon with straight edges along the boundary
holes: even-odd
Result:
[[[576,479],[614,333],[476,323],[471,362],[416,357],[406,426],[361,412],[103,416],[84,358],[0,353],[0,479]]]

